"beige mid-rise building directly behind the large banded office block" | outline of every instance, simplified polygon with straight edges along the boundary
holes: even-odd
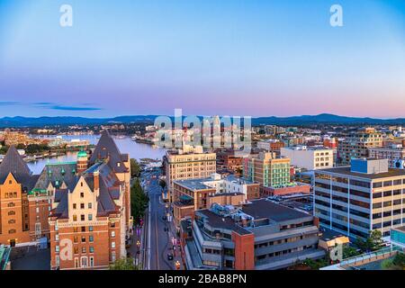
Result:
[[[369,157],[369,148],[383,147],[383,134],[365,129],[338,142],[338,163],[345,166],[352,158]]]

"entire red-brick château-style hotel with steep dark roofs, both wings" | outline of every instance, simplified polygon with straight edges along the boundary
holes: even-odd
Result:
[[[49,238],[52,269],[103,269],[126,257],[130,157],[108,131],[91,157],[48,164],[32,175],[14,147],[0,165],[0,244]]]

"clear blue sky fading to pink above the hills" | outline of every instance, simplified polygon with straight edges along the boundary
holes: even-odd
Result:
[[[0,0],[0,113],[402,117],[404,32],[396,0]]]

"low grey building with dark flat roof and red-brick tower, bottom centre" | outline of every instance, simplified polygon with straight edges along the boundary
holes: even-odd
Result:
[[[182,220],[187,269],[275,270],[325,256],[317,219],[266,199],[214,205]]]

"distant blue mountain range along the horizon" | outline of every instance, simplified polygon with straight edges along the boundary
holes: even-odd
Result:
[[[4,117],[0,118],[0,127],[42,127],[46,125],[91,125],[91,124],[111,124],[130,122],[150,122],[153,123],[157,115],[135,115],[119,116],[112,118],[85,118],[85,117]],[[334,114],[302,115],[292,117],[257,117],[252,118],[254,125],[311,125],[311,124],[405,124],[405,118],[397,119],[376,119],[338,116]]]

